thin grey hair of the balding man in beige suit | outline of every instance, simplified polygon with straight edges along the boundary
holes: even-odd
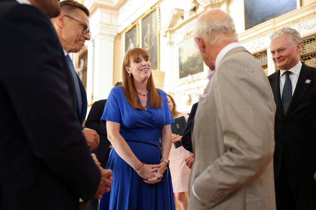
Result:
[[[195,37],[200,37],[212,45],[221,44],[228,39],[238,41],[234,20],[229,15],[226,14],[225,18],[211,20],[203,18],[203,16],[204,14],[197,20]]]

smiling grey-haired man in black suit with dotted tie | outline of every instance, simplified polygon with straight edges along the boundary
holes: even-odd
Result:
[[[299,60],[301,36],[285,27],[271,35],[268,78],[276,102],[274,177],[277,209],[316,209],[316,68]]]

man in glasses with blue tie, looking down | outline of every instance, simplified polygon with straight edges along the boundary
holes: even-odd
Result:
[[[79,78],[70,56],[71,53],[79,52],[86,40],[90,40],[89,10],[82,4],[73,0],[60,2],[61,13],[52,19],[52,24],[57,32],[60,44],[71,71],[73,82],[76,88],[76,113],[78,121],[82,125],[87,115],[87,93]],[[90,151],[96,149],[100,137],[96,131],[82,127]]]

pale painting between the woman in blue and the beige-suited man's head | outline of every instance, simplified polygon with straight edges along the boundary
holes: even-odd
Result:
[[[203,59],[195,41],[179,47],[179,79],[203,72]]]

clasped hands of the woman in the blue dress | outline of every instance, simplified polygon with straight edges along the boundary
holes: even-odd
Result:
[[[167,168],[167,163],[161,162],[158,165],[149,165],[144,164],[143,167],[140,167],[136,172],[139,173],[139,176],[143,178],[143,182],[148,184],[155,184],[161,181],[163,177],[163,172]]]

